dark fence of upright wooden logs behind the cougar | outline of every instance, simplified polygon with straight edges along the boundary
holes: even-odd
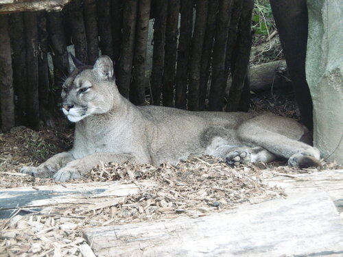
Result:
[[[38,129],[56,114],[70,46],[84,64],[110,56],[119,92],[136,105],[249,106],[253,0],[73,0],[60,12],[37,5],[20,12],[19,3],[4,8],[0,1],[3,131]]]

